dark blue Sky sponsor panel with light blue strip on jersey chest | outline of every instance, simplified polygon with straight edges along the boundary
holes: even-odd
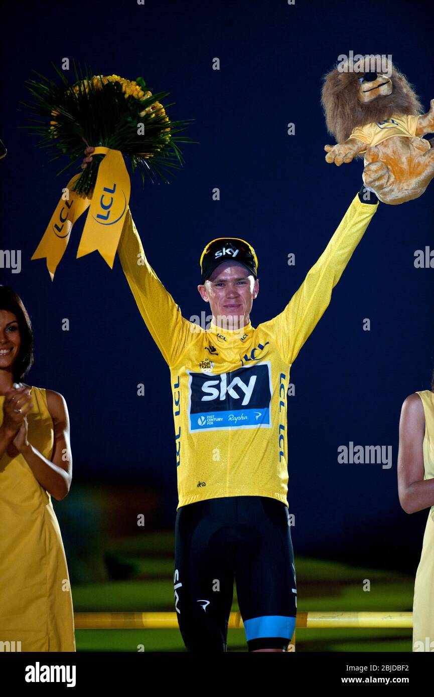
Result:
[[[190,433],[271,428],[269,361],[220,375],[187,372]]]

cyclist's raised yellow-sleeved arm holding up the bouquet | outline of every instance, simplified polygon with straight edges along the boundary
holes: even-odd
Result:
[[[129,208],[117,251],[144,323],[171,366],[195,337],[195,325],[181,315],[179,305],[149,265]]]

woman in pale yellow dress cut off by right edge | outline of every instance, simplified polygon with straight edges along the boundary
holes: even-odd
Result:
[[[406,513],[429,508],[414,581],[413,651],[434,651],[434,375],[431,390],[409,395],[399,424],[399,502]]]

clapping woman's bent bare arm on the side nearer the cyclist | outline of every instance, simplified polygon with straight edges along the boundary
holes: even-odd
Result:
[[[23,455],[33,475],[48,493],[60,501],[65,498],[72,479],[73,459],[70,452],[69,415],[66,401],[59,392],[45,390],[47,406],[53,420],[52,461],[47,460],[26,438],[15,438],[14,445]],[[21,432],[21,429],[20,429]],[[25,441],[25,442],[24,442]],[[27,443],[27,445],[26,445]]]

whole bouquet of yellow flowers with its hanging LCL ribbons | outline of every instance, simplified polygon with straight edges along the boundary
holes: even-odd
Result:
[[[70,158],[59,174],[82,162],[85,143],[95,151],[88,167],[63,188],[50,224],[31,257],[47,259],[52,279],[73,224],[87,208],[89,215],[77,257],[98,250],[112,268],[130,198],[124,158],[133,171],[140,169],[143,183],[145,174],[153,182],[160,178],[167,182],[166,174],[174,174],[183,162],[179,143],[196,142],[176,135],[191,119],[170,121],[160,102],[168,93],[152,94],[142,77],[133,81],[119,75],[91,75],[89,70],[83,74],[74,64],[76,79],[71,85],[64,73],[54,68],[61,77],[61,86],[39,73],[38,82],[25,83],[33,100],[22,104],[38,118],[32,118],[34,123],[23,128],[40,136],[41,147],[54,149],[52,160],[63,155]]]

